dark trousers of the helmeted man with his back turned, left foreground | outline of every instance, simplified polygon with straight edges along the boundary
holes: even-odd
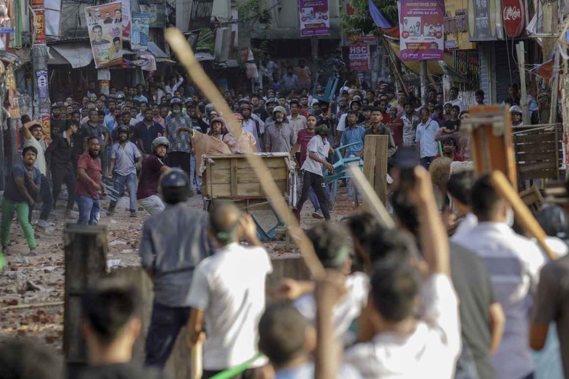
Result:
[[[145,365],[164,367],[180,329],[188,322],[189,307],[167,307],[154,300],[146,337]]]

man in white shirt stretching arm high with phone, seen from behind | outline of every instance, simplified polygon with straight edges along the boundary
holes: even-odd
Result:
[[[413,199],[422,220],[419,237],[429,276],[421,285],[419,271],[408,258],[376,262],[371,280],[372,303],[362,317],[374,326],[381,326],[380,331],[368,327],[376,330],[373,339],[344,353],[344,361],[356,367],[366,379],[451,379],[460,352],[459,304],[450,277],[446,229],[438,214],[427,170],[418,166],[414,173]],[[335,289],[338,284],[332,274],[316,284],[319,346],[315,356],[316,367],[323,371],[336,363],[330,336],[333,324],[326,320],[331,320],[333,303],[341,297],[342,291]],[[362,333],[366,335],[366,331]],[[325,361],[319,365],[320,357]],[[328,371],[325,374],[333,375]]]

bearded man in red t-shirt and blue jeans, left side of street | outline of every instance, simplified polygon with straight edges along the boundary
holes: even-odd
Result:
[[[77,161],[77,185],[75,187],[75,201],[79,208],[77,224],[97,225],[101,204],[99,193],[107,195],[105,186],[101,183],[101,159],[98,157],[101,145],[98,137],[89,137],[87,152]]]

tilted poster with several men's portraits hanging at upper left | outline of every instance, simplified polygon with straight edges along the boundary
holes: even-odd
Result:
[[[96,67],[122,63],[121,3],[85,7],[85,18]]]

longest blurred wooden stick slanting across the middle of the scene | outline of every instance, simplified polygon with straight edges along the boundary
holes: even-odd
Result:
[[[207,75],[205,75],[204,69],[196,60],[182,32],[176,28],[168,28],[166,30],[166,39],[168,40],[168,44],[170,44],[172,50],[176,53],[180,63],[185,66],[188,75],[192,78],[193,82],[201,92],[203,92],[205,97],[208,98],[208,101],[215,104],[214,108],[218,112],[223,112],[226,115],[225,120],[228,123],[227,126],[229,127],[229,130],[233,131],[233,134],[236,135],[237,139],[239,139],[239,136],[241,135],[241,128],[233,117],[231,117],[233,112],[229,109],[224,98],[221,96],[221,93],[213,82]],[[251,168],[255,171],[255,175],[257,175],[263,190],[267,195],[269,195],[271,201],[273,201],[273,205],[279,216],[281,216],[283,220],[286,220],[286,224],[291,226],[292,229],[296,229],[291,231],[291,235],[296,244],[300,249],[302,249],[304,262],[306,262],[312,277],[323,278],[324,267],[318,257],[316,257],[314,247],[306,237],[306,234],[304,234],[303,230],[300,229],[300,225],[296,221],[296,217],[288,209],[288,205],[284,201],[282,193],[279,193],[277,184],[275,184],[273,176],[271,176],[269,170],[267,170],[267,166],[259,156],[253,154],[244,155],[246,156]]]

